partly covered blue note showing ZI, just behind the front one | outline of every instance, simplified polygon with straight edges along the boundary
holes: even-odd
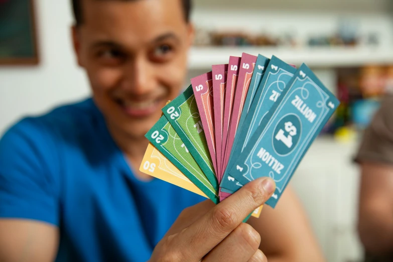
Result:
[[[233,166],[234,160],[238,158],[249,139],[255,133],[261,121],[265,118],[273,104],[280,97],[280,94],[284,91],[295,72],[296,69],[293,66],[285,63],[275,56],[273,56],[272,60],[270,60],[265,74],[260,81],[259,87],[257,88],[248,113],[246,113],[244,117],[245,119],[241,129],[239,129],[241,131],[236,134],[236,144],[233,152],[238,152],[238,154],[232,154],[228,168],[225,170],[223,175],[220,185],[221,188],[229,191],[236,191],[239,189],[241,182],[236,181],[236,178],[230,177],[229,170]]]

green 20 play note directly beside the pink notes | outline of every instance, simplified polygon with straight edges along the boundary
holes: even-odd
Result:
[[[192,86],[162,110],[212,186],[218,188]]]

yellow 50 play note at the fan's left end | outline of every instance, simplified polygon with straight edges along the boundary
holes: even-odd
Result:
[[[207,198],[207,196],[197,186],[183,175],[183,173],[180,172],[180,170],[177,169],[151,143],[149,143],[139,170],[145,174],[164,180]]]

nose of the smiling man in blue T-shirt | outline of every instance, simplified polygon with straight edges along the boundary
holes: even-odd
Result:
[[[154,68],[144,57],[136,57],[125,65],[121,88],[136,96],[151,93],[155,87]]]

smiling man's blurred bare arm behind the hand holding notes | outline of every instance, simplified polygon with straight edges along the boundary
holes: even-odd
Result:
[[[249,223],[259,232],[260,249],[268,259],[280,256],[282,261],[324,261],[305,211],[291,187],[284,191],[275,209],[265,206],[260,217],[251,217]]]

